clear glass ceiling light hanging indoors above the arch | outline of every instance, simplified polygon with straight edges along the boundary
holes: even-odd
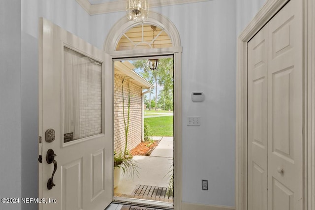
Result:
[[[148,0],[126,0],[126,16],[134,22],[144,22],[148,19]]]

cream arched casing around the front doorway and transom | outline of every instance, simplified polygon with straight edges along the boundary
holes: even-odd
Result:
[[[103,51],[108,53],[112,60],[120,58],[136,58],[148,56],[173,55],[174,62],[174,210],[181,210],[182,202],[182,46],[175,25],[163,15],[150,12],[145,24],[156,25],[169,35],[173,47],[155,49],[134,49],[115,51],[116,46],[124,32],[139,25],[129,21],[125,16],[115,23],[108,33]],[[113,62],[112,62],[113,63]],[[114,65],[114,64],[113,64]],[[114,68],[114,67],[113,67]],[[112,119],[113,120],[113,119]]]

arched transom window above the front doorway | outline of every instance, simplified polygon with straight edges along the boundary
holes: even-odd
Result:
[[[137,25],[123,33],[116,50],[132,50],[135,48],[167,48],[172,41],[164,29],[149,24]]]

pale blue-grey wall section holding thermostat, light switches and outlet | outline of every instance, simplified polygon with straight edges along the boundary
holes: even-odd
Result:
[[[234,206],[235,0],[154,10],[175,24],[183,46],[183,202]],[[192,102],[192,91],[205,101]],[[187,126],[189,116],[201,126]]]

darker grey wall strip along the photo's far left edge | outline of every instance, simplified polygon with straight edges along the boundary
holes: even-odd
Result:
[[[21,197],[20,4],[0,1],[0,198]],[[21,204],[0,203],[0,209],[20,210]]]

